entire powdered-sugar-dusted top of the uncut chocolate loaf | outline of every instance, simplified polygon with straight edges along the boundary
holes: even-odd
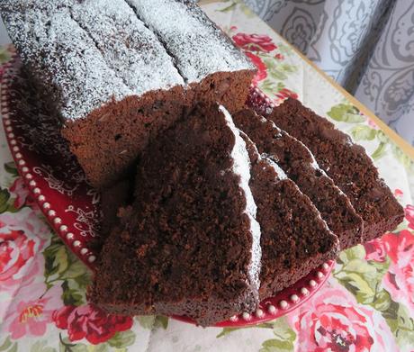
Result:
[[[0,10],[24,65],[64,120],[129,95],[254,68],[187,1],[3,0]]]

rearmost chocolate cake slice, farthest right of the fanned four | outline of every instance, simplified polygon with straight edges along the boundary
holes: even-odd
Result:
[[[323,117],[288,99],[268,115],[277,126],[301,140],[354,205],[364,221],[364,241],[394,230],[404,210],[378,175],[365,149]]]

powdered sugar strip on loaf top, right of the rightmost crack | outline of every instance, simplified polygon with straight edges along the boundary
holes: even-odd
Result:
[[[125,1],[157,33],[188,83],[215,72],[254,68],[198,5],[180,0]]]

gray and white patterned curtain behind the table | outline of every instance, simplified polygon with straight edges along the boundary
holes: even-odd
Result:
[[[245,2],[414,145],[414,1]]]

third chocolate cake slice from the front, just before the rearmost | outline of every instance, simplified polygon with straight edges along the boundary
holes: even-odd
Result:
[[[341,249],[362,242],[362,218],[302,142],[252,110],[243,110],[233,118],[238,128],[256,143],[258,152],[274,160],[302,193],[309,196],[329,229],[338,236]]]

